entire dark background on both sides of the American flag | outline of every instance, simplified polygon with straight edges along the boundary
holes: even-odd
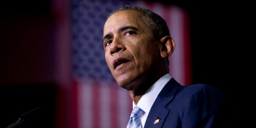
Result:
[[[253,4],[242,0],[160,1],[189,13],[193,83],[221,90],[231,101],[237,126],[254,126]],[[4,1],[0,9],[0,127],[38,106],[45,108],[41,117],[45,125],[53,126],[58,91],[51,1]]]

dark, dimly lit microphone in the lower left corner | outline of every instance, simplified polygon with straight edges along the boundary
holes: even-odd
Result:
[[[38,112],[41,110],[41,107],[34,108],[26,113],[23,113],[20,115],[20,117],[17,119],[16,122],[9,125],[7,128],[21,128],[22,124],[26,122],[29,119],[33,119],[35,115],[38,114]]]

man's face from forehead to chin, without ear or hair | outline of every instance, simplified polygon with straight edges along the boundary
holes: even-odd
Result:
[[[111,15],[104,25],[105,59],[119,86],[131,89],[157,71],[159,43],[137,11]]]

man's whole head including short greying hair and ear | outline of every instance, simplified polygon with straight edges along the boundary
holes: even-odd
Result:
[[[103,34],[105,59],[119,86],[147,89],[169,72],[167,60],[175,43],[159,15],[140,7],[120,7],[109,15]]]

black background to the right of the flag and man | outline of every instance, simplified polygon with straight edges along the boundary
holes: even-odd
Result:
[[[237,128],[255,120],[255,11],[247,1],[174,2],[191,20],[193,83],[221,90],[231,102]]]

